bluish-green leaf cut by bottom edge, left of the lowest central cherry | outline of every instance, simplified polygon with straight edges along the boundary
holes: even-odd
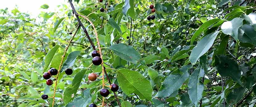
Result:
[[[72,102],[69,102],[65,107],[87,107],[92,101],[92,98],[75,98]]]

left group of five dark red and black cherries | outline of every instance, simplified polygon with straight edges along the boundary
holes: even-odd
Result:
[[[73,73],[73,70],[71,68],[68,68],[68,69],[65,70],[65,73],[67,75],[71,75]],[[57,74],[58,74],[58,70],[55,69],[55,68],[51,68],[51,69],[48,70],[48,72],[43,73],[43,78],[46,79],[46,84],[48,86],[51,86],[53,84],[52,79],[50,79],[51,76],[55,76]],[[46,100],[48,98],[48,95],[43,94],[41,97],[42,97],[42,99]]]

